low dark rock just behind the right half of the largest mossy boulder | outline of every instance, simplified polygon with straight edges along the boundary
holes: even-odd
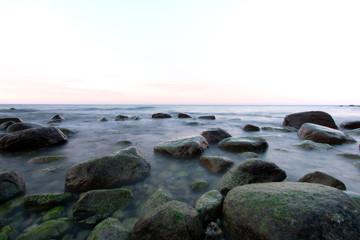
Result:
[[[339,190],[346,190],[345,184],[341,182],[339,179],[336,179],[326,173],[319,171],[308,173],[302,176],[298,180],[298,182],[318,183],[318,184],[334,187]]]

